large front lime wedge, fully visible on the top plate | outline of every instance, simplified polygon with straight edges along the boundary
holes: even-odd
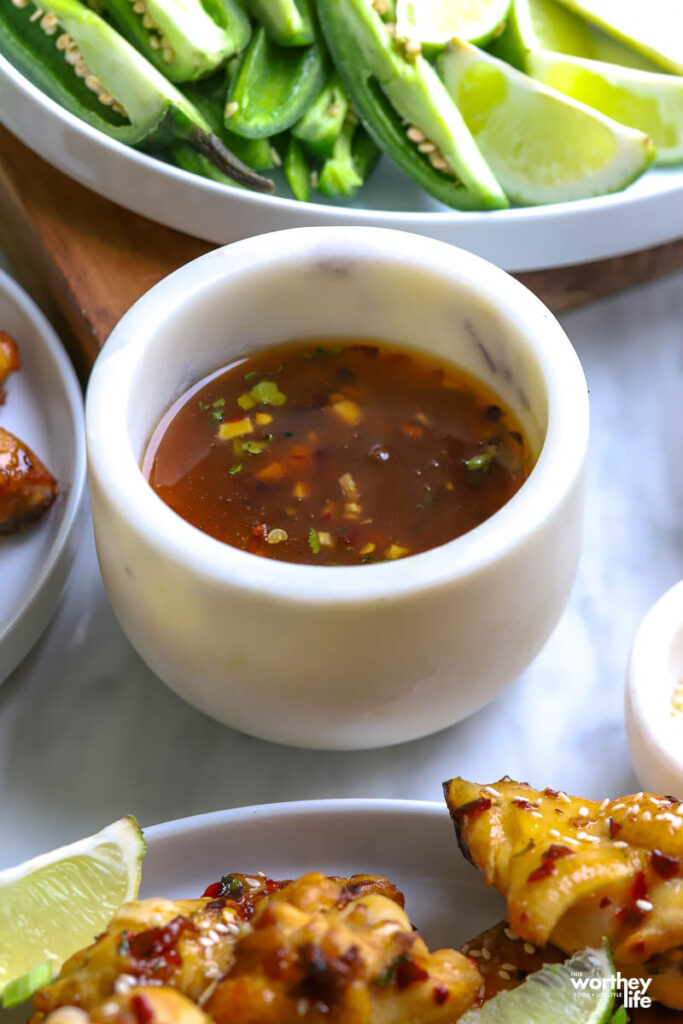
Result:
[[[515,203],[604,196],[624,188],[652,161],[649,136],[468,43],[450,43],[439,71],[484,160]]]

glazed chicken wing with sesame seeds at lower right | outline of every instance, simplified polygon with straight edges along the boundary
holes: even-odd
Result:
[[[506,897],[510,928],[570,953],[609,939],[616,968],[683,1009],[683,804],[597,803],[504,778],[444,784],[465,856]]]

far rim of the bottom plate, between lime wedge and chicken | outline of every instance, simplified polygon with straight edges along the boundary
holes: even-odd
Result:
[[[435,800],[397,800],[382,797],[341,797],[323,800],[284,800],[271,804],[247,804],[244,807],[228,807],[222,811],[207,811],[204,814],[191,814],[184,818],[173,818],[155,825],[143,825],[142,833],[145,842],[152,850],[154,844],[162,842],[171,836],[199,831],[205,827],[228,824],[254,818],[287,818],[294,814],[315,817],[321,813],[339,814],[340,816],[362,813],[377,816],[378,814],[395,814],[396,811],[416,812],[430,816],[447,818],[447,808]]]

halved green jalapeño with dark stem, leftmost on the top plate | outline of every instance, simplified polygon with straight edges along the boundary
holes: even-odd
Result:
[[[184,138],[240,184],[272,191],[141,53],[78,0],[0,5],[0,52],[47,95],[129,145]]]

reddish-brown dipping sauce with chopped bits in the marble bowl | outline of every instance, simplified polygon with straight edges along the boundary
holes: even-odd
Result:
[[[143,460],[211,537],[266,558],[359,565],[438,547],[533,465],[519,423],[454,366],[374,341],[263,349],[180,397]]]

